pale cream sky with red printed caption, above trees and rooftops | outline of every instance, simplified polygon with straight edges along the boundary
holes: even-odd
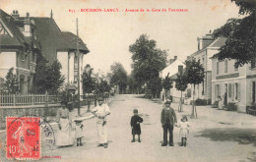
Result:
[[[230,0],[0,0],[0,8],[8,14],[13,10],[18,10],[20,16],[30,13],[31,17],[50,17],[52,10],[58,27],[75,34],[78,18],[79,36],[90,50],[84,56],[84,65],[104,73],[119,62],[130,74],[129,46],[143,33],[155,39],[158,48],[167,50],[167,59],[177,56],[185,61],[197,51],[198,36],[222,27],[229,18],[239,18],[238,7]],[[168,12],[169,8],[187,12]],[[118,12],[107,12],[109,9]],[[160,12],[154,12],[157,9]]]

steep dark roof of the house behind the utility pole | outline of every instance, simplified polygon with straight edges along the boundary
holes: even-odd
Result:
[[[56,51],[76,50],[77,36],[72,32],[62,32],[51,18],[32,18],[34,20],[35,34],[41,44],[41,53],[48,60],[56,59]],[[86,54],[89,51],[82,39],[79,45],[80,52]]]

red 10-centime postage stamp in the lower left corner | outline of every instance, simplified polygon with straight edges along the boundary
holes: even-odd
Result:
[[[6,118],[6,157],[7,159],[40,158],[39,117]]]

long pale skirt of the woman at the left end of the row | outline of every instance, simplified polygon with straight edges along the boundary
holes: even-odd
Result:
[[[60,119],[61,130],[59,130],[56,137],[57,146],[73,145],[73,137],[69,119]]]

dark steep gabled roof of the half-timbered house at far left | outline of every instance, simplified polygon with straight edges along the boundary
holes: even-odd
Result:
[[[27,41],[22,31],[15,25],[14,18],[0,9],[0,19],[13,35],[11,37],[0,34],[1,46],[25,46]]]

